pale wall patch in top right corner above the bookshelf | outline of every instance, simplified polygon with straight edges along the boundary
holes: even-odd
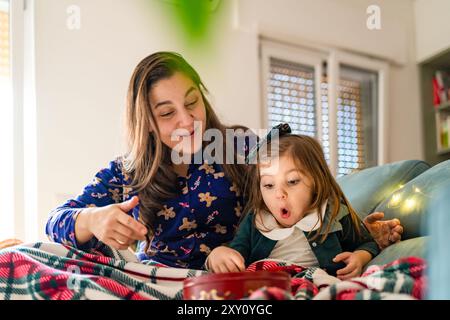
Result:
[[[450,48],[450,1],[415,0],[417,62]]]

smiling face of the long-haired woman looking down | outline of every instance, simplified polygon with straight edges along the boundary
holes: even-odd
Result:
[[[150,92],[150,106],[166,146],[182,154],[200,150],[206,109],[200,90],[189,77],[177,72],[159,80]]]

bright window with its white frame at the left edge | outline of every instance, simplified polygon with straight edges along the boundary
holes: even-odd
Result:
[[[32,241],[39,228],[33,12],[33,1],[0,0],[0,239]]]

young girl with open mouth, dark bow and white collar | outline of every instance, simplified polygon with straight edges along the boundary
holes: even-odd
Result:
[[[342,280],[360,275],[379,248],[331,175],[320,144],[293,134],[274,143],[279,155],[253,168],[254,212],[228,246],[211,252],[208,269],[244,271],[270,259],[321,267]]]

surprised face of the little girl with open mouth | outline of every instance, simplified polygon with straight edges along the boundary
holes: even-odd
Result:
[[[312,202],[312,181],[290,156],[262,165],[260,178],[263,200],[279,224],[291,227],[305,216]]]

